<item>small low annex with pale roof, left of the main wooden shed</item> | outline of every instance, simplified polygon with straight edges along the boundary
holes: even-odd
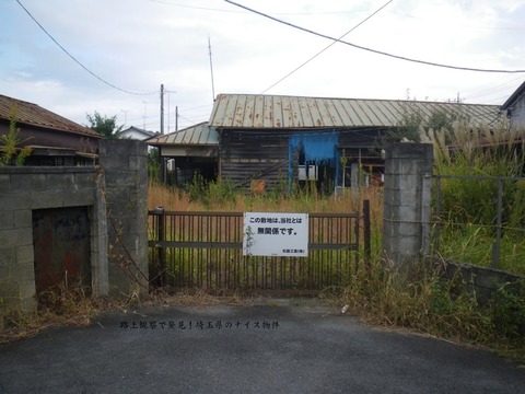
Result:
[[[200,123],[145,141],[159,148],[163,179],[182,186],[196,174],[215,179],[219,172],[219,136],[213,127]]]

